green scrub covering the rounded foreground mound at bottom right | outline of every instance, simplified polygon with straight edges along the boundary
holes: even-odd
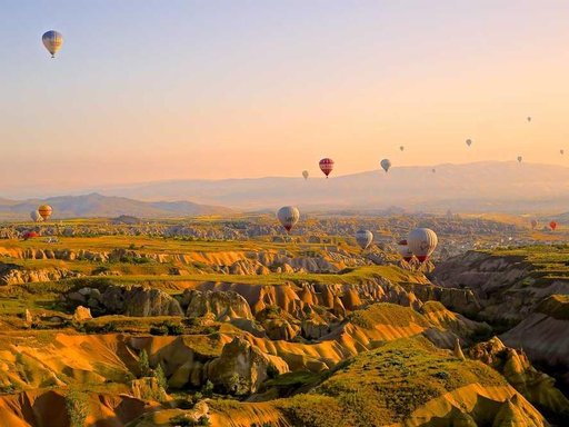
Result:
[[[298,425],[383,426],[402,421],[447,391],[477,383],[507,384],[486,365],[461,361],[425,338],[399,339],[340,364],[309,394],[278,405]]]

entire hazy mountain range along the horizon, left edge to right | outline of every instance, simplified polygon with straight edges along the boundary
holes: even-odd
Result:
[[[329,179],[267,177],[174,180],[86,189],[87,195],[16,201],[0,198],[0,218],[23,219],[47,202],[58,218],[168,218],[272,211],[283,205],[328,212],[386,209],[446,212],[568,211],[569,168],[518,162],[393,167]],[[188,201],[191,200],[191,201]]]

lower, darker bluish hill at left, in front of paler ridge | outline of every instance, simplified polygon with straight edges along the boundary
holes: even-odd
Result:
[[[101,196],[93,192],[84,196],[51,197],[44,200],[16,201],[0,199],[0,217],[4,219],[28,219],[29,214],[41,203],[53,207],[54,218],[113,218],[120,216],[168,218],[233,212],[228,208],[198,205],[191,201],[140,201],[124,197]]]

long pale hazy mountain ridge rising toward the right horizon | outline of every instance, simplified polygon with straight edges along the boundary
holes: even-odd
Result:
[[[518,162],[397,167],[320,178],[179,180],[103,188],[104,195],[141,200],[191,198],[200,203],[258,210],[282,205],[310,209],[408,210],[511,214],[566,211],[569,168]]]

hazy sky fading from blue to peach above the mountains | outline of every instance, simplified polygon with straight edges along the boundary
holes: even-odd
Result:
[[[569,165],[565,0],[0,0],[0,196],[316,175],[325,156],[338,175],[383,157]],[[49,29],[64,37],[56,60],[41,44]]]

